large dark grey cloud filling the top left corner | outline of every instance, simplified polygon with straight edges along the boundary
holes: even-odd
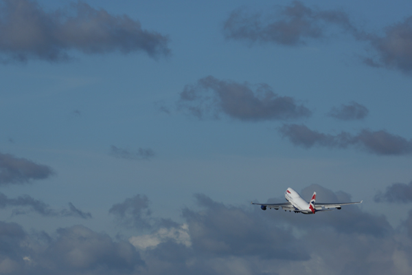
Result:
[[[31,0],[0,1],[0,53],[3,62],[40,59],[67,61],[69,52],[106,54],[146,52],[166,56],[168,38],[143,30],[126,14],[115,16],[78,1],[47,12]]]

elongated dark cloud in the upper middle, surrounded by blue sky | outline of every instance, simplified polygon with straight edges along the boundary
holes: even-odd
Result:
[[[180,94],[179,107],[198,118],[225,113],[238,120],[288,120],[311,115],[311,111],[289,96],[278,96],[266,84],[253,91],[248,83],[218,80],[207,76],[196,85],[186,85]]]

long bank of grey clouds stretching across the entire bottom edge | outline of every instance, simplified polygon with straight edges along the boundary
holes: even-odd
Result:
[[[301,191],[319,200],[350,199],[319,185]],[[138,197],[138,199],[136,199]],[[119,203],[120,215],[137,201]],[[358,206],[314,215],[266,210],[249,203],[229,206],[198,194],[183,208],[183,223],[170,223],[129,241],[82,225],[54,234],[25,232],[0,221],[0,272],[14,274],[409,274],[411,217],[394,230],[382,215]],[[137,232],[139,232],[137,230]],[[133,246],[132,245],[135,245]]]

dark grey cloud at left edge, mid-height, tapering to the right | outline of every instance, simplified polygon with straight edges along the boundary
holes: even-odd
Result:
[[[0,186],[25,184],[36,179],[47,179],[54,172],[49,166],[31,160],[0,153]]]

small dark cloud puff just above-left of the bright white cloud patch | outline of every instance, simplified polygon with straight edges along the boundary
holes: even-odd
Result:
[[[135,195],[125,199],[122,203],[114,204],[109,213],[114,214],[117,220],[128,227],[151,228],[151,214],[149,199],[145,195]]]

